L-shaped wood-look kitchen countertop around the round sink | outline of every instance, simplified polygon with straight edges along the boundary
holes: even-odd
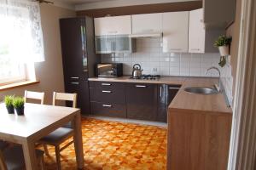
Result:
[[[218,82],[217,78],[210,77],[160,77],[159,80],[137,80],[131,79],[129,76],[124,77],[92,77],[89,81],[105,81],[105,82],[135,82],[135,83],[156,83],[156,84],[181,84],[182,87],[178,91],[169,109],[202,111],[212,113],[228,113],[232,110],[225,103],[224,94],[190,94],[183,91],[186,87],[212,87]]]

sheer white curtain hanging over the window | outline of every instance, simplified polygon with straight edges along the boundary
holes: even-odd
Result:
[[[19,62],[44,61],[38,3],[0,0],[0,48]]]

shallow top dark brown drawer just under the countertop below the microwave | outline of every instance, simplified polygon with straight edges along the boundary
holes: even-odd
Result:
[[[125,89],[125,84],[122,82],[96,82],[90,81],[89,82],[90,88],[104,88],[104,89]]]

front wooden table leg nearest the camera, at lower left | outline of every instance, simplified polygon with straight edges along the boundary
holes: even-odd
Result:
[[[38,169],[38,161],[36,156],[35,144],[26,140],[22,144],[23,154],[26,163],[26,170]]]

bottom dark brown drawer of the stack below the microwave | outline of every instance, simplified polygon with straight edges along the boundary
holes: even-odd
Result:
[[[126,117],[125,105],[90,102],[90,110],[92,115],[97,116]]]

